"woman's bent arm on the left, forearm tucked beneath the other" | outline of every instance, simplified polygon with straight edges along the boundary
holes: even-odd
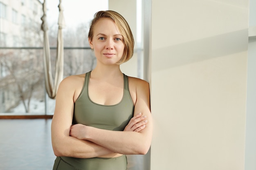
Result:
[[[54,116],[52,118],[52,147],[54,154],[56,156],[91,158],[113,153],[93,142],[70,137],[74,94],[77,84],[79,84],[79,77],[70,76],[63,79],[58,87]]]

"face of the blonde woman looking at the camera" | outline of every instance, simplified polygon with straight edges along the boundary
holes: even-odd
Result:
[[[89,44],[94,49],[97,61],[102,64],[116,64],[124,53],[123,36],[109,18],[102,18],[95,24]]]

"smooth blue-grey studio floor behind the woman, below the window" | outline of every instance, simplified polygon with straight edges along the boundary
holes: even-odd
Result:
[[[52,170],[52,119],[0,119],[0,170]],[[141,155],[127,155],[128,170],[144,170]]]

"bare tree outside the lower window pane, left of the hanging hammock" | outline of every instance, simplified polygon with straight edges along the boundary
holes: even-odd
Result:
[[[12,52],[11,55],[1,56],[0,62],[9,73],[9,79],[12,79],[12,84],[9,84],[9,86],[12,86],[11,89],[18,93],[25,112],[29,113],[33,93],[38,90],[38,85],[43,81],[43,69],[37,62],[38,58],[33,55],[31,55],[33,57],[24,56],[21,51],[16,51],[16,53]]]

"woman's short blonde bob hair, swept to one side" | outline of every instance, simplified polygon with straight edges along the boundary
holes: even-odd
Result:
[[[132,31],[130,29],[129,24],[124,19],[122,15],[115,11],[99,11],[94,14],[94,19],[91,22],[90,25],[90,31],[88,34],[88,39],[92,40],[93,38],[93,30],[95,24],[101,19],[101,18],[110,18],[115,22],[117,25],[117,28],[119,29],[121,35],[124,38],[124,54],[119,62],[117,64],[122,64],[124,62],[127,62],[132,58],[133,55],[133,49],[134,49],[134,38],[132,35]]]

